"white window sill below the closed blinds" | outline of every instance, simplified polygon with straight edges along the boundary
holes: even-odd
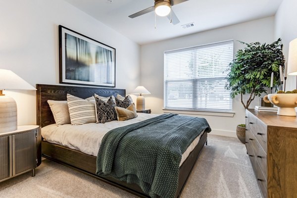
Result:
[[[189,115],[209,115],[209,116],[221,116],[221,117],[233,117],[235,112],[233,111],[203,111],[203,110],[180,110],[180,109],[167,109],[163,108],[164,113],[178,113]]]

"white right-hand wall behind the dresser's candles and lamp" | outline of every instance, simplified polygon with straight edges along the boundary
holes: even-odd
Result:
[[[288,60],[289,43],[297,38],[297,0],[283,0],[275,15],[275,38],[282,38]],[[286,90],[296,89],[296,77],[288,76]]]

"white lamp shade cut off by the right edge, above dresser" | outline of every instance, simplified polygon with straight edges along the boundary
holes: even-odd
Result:
[[[297,39],[289,44],[288,75],[297,75]]]

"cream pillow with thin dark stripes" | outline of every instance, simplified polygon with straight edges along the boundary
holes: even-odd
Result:
[[[80,125],[90,122],[96,122],[94,101],[88,101],[86,99],[81,99],[67,94],[67,104],[71,124]]]

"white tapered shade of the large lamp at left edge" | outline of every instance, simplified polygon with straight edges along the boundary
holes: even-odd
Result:
[[[36,90],[10,70],[0,69],[0,90]]]

